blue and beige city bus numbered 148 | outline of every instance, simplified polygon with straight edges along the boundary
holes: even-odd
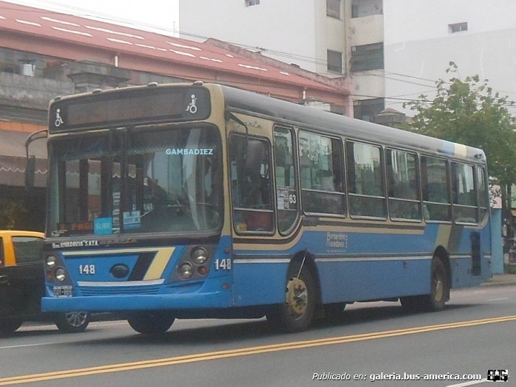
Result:
[[[491,277],[481,149],[202,81],[50,103],[44,311],[264,317],[438,311]]]

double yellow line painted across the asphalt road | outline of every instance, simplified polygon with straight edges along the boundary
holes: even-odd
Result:
[[[516,321],[516,315],[492,317],[481,320],[470,320],[464,322],[454,322],[449,324],[438,324],[429,326],[419,326],[416,328],[396,329],[394,331],[363,333],[360,335],[350,335],[341,337],[329,337],[325,339],[314,339],[302,342],[288,342],[283,344],[270,344],[267,346],[256,346],[249,348],[231,349],[226,351],[217,351],[211,353],[198,353],[193,355],[183,355],[177,357],[169,357],[165,359],[142,360],[140,362],[130,362],[121,364],[109,364],[106,366],[95,366],[89,368],[79,368],[75,370],[63,370],[50,373],[40,373],[34,375],[23,375],[15,377],[0,378],[0,386],[8,386],[12,384],[31,383],[34,381],[46,381],[53,379],[65,379],[69,377],[79,377],[86,375],[97,375],[103,373],[115,373],[127,370],[138,370],[144,368],[173,366],[176,364],[185,364],[192,362],[203,362],[213,359],[225,359],[228,357],[238,357],[246,355],[256,355],[259,353],[271,353],[279,351],[289,351],[299,348],[311,348],[316,346],[325,346],[331,344],[345,344],[350,342],[361,342],[370,339],[380,339],[385,337],[396,337],[402,335],[411,335],[414,333],[425,333],[432,331],[440,331],[452,328],[464,328],[466,326],[477,326],[484,324],[495,324],[499,322]]]

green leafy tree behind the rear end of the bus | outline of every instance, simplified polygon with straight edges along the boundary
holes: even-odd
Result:
[[[443,140],[483,149],[491,176],[502,184],[516,181],[516,119],[507,107],[514,105],[480,81],[478,75],[460,79],[458,67],[450,62],[449,81],[436,82],[433,101],[421,95],[405,103],[414,112],[407,129]]]

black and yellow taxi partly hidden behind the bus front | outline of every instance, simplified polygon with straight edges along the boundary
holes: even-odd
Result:
[[[24,321],[54,321],[60,331],[83,332],[87,312],[43,313],[43,233],[0,231],[0,335],[16,331]]]

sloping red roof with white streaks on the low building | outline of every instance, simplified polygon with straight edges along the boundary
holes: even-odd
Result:
[[[206,70],[254,76],[277,83],[343,93],[342,90],[336,90],[329,85],[297,74],[290,74],[288,71],[253,61],[207,43],[178,39],[155,32],[4,1],[0,1],[0,35],[1,30],[43,36],[45,39],[63,43],[89,45],[113,52],[127,52],[149,59],[159,57],[175,63],[204,67]],[[60,53],[56,52],[56,56],[60,56]]]

